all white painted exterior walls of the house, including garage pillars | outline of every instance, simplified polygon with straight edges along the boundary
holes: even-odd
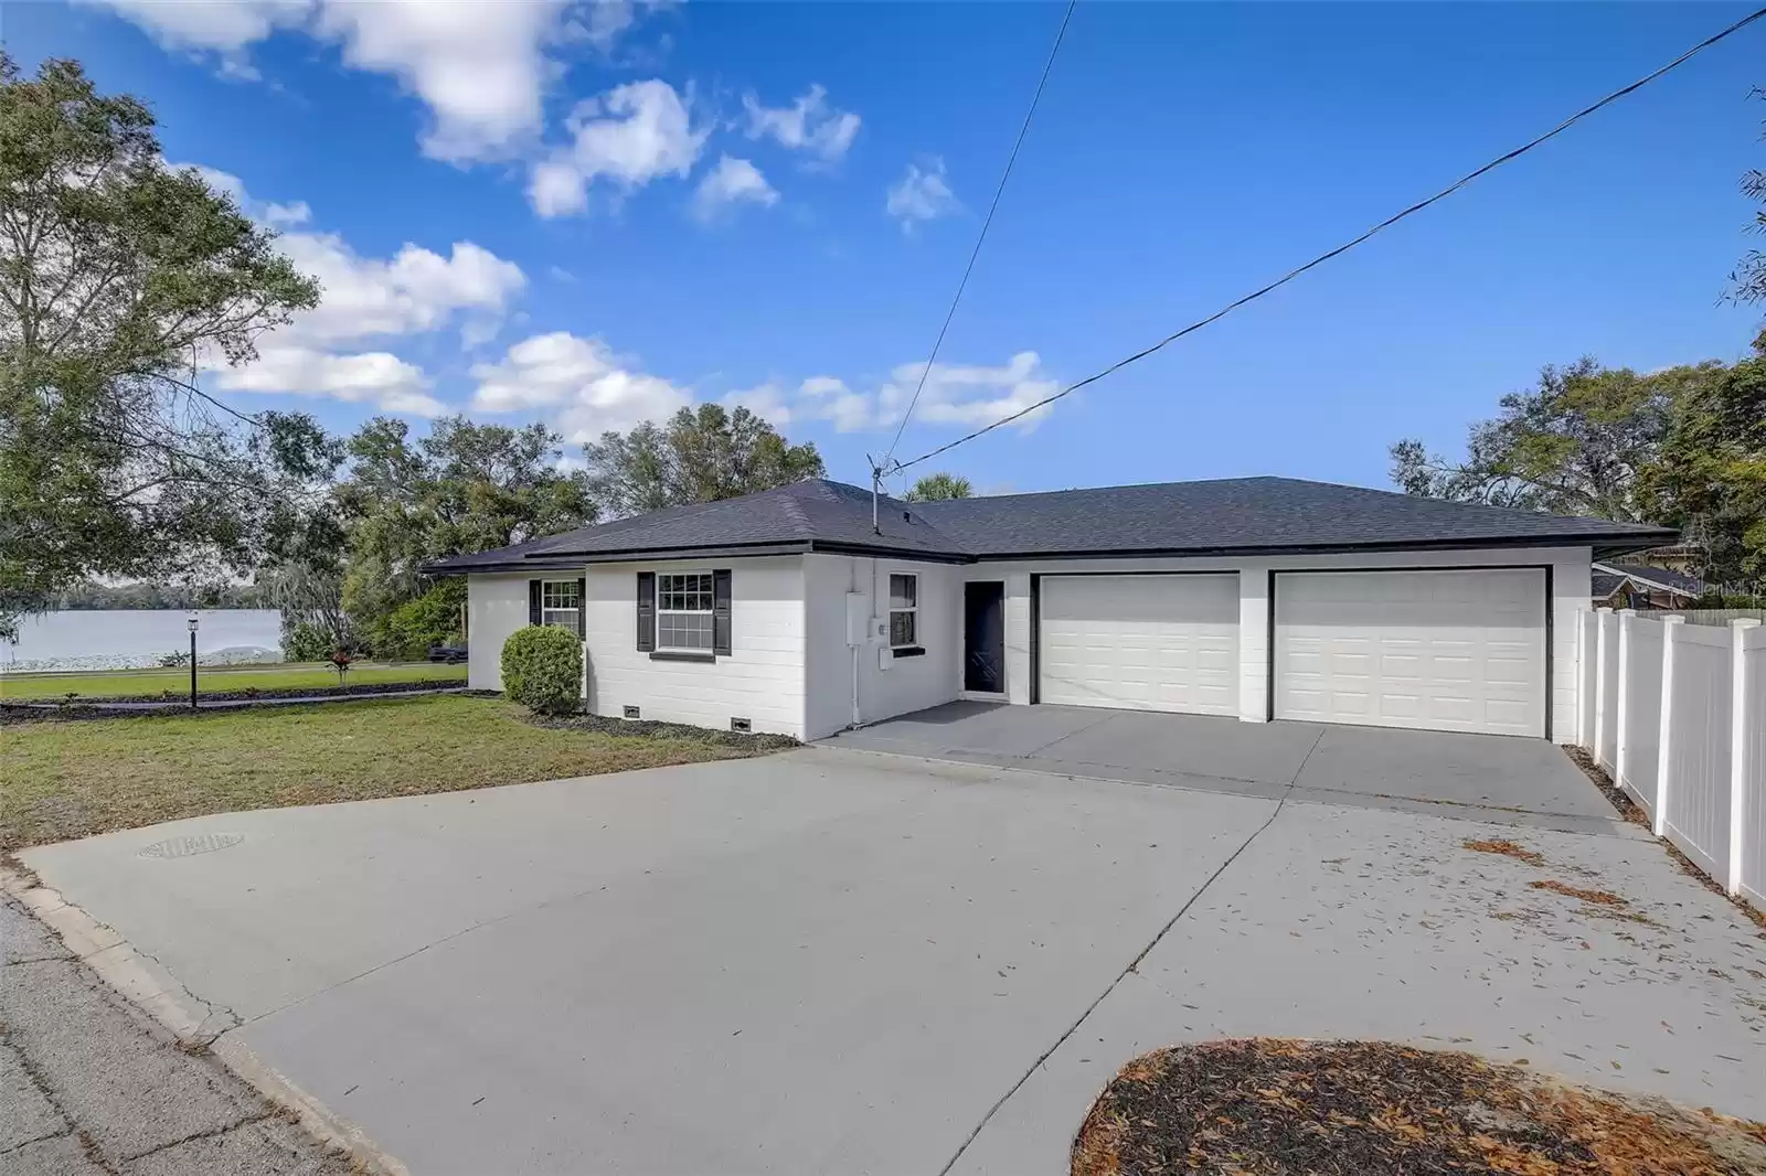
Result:
[[[636,648],[636,574],[694,572],[728,567],[735,653],[715,664],[652,660]],[[878,722],[959,697],[962,683],[962,584],[1005,581],[1007,701],[1031,697],[1031,574],[1061,572],[1238,572],[1240,682],[1238,717],[1268,717],[1270,570],[1552,569],[1552,738],[1575,742],[1577,611],[1589,593],[1589,549],[1441,551],[1257,558],[1023,560],[920,563],[871,556],[807,554],[751,560],[590,565],[586,662],[588,705],[618,717],[636,705],[645,719],[728,729],[735,715],[756,731],[821,738],[853,722],[853,652],[846,645],[846,593],[865,597],[871,636],[858,650],[858,720]],[[888,574],[920,577],[922,657],[879,666],[883,637],[876,622],[888,613]],[[570,572],[551,572],[560,579]],[[528,620],[526,576],[473,576],[470,600],[468,683],[502,689],[503,641]]]

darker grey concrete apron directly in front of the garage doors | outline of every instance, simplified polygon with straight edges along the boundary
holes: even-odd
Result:
[[[1602,832],[1612,805],[1545,740],[1240,722],[1091,706],[947,703],[846,731],[830,747],[1377,807],[1457,805],[1515,825]],[[1469,814],[1491,818],[1494,814]]]

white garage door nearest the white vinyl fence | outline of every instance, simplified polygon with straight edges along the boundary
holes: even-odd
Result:
[[[1275,717],[1545,735],[1545,572],[1280,572]]]

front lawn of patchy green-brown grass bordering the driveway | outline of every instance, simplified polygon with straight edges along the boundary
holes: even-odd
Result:
[[[537,727],[493,697],[0,726],[0,851],[207,812],[447,793],[756,754],[715,733]]]

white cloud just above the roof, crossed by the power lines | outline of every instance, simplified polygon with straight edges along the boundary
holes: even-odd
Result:
[[[814,376],[798,388],[796,411],[830,420],[839,433],[890,429],[913,401],[925,364],[901,364],[876,392],[855,392],[832,376]],[[1060,381],[1042,371],[1035,351],[1019,351],[1000,367],[932,364],[915,404],[920,424],[982,426],[1030,408],[1060,390]],[[1051,408],[1038,408],[1014,422],[1035,429]]]

